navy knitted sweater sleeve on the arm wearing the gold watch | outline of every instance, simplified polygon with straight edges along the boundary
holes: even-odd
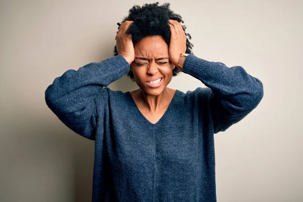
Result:
[[[211,89],[214,133],[225,131],[254,110],[263,97],[262,82],[241,66],[227,67],[188,55],[183,69]]]

